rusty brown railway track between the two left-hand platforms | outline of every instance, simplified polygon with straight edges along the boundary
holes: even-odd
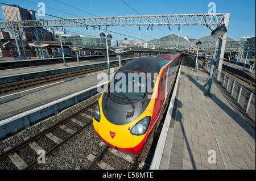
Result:
[[[125,64],[125,62],[123,62],[122,65],[123,64]],[[118,67],[118,64],[110,65],[110,68],[116,68],[116,67]],[[86,74],[94,73],[94,72],[105,70],[105,69],[108,69],[108,66],[100,66],[98,68],[84,69],[84,70],[72,71],[72,72],[62,73],[57,75],[50,75],[47,77],[29,79],[26,81],[8,83],[8,84],[0,85],[0,95],[3,96],[3,95],[11,94],[14,92],[22,91],[22,90],[27,90],[27,89],[30,89],[31,87],[39,87],[42,85],[47,85],[49,83],[59,82],[69,78],[75,78],[81,75],[86,75]]]

